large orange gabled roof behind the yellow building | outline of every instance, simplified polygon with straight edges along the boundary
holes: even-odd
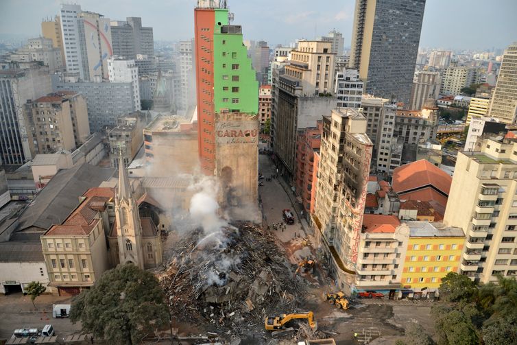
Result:
[[[448,195],[453,179],[429,161],[421,159],[393,171],[393,190],[397,193],[433,186]]]

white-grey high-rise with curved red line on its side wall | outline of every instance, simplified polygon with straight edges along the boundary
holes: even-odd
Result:
[[[110,19],[84,12],[80,5],[61,5],[61,34],[67,72],[82,80],[107,80],[107,59],[113,55]]]

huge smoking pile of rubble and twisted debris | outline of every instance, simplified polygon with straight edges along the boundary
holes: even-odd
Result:
[[[271,235],[250,223],[224,227],[220,235],[216,243],[203,243],[201,231],[181,239],[158,273],[176,318],[239,331],[296,309],[304,288]]]

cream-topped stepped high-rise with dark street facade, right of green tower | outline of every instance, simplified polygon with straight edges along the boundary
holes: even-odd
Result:
[[[330,42],[300,41],[298,48],[291,51],[285,73],[278,77],[272,108],[273,144],[282,172],[289,177],[296,172],[296,133],[313,127],[337,103],[335,97],[330,97],[335,78],[335,54],[330,53],[330,45]]]

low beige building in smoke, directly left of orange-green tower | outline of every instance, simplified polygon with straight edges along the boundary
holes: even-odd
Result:
[[[197,128],[193,121],[159,115],[143,130],[149,176],[191,174],[198,166]]]

